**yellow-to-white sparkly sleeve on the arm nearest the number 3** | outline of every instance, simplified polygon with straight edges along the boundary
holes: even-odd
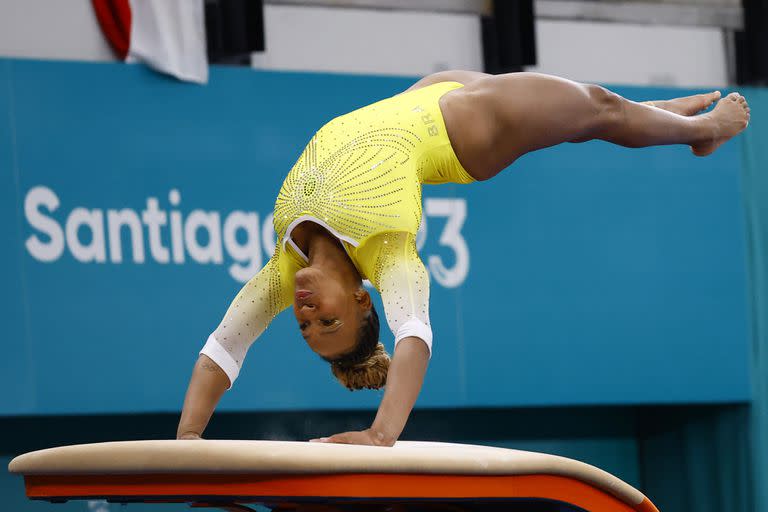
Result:
[[[381,294],[395,348],[400,340],[414,336],[426,343],[432,354],[429,323],[429,275],[416,251],[416,237],[409,233],[379,235],[378,257],[371,281]]]

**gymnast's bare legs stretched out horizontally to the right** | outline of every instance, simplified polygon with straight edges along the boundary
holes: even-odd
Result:
[[[749,107],[736,93],[711,112],[687,117],[597,85],[538,73],[473,81],[444,95],[440,106],[459,160],[477,179],[494,176],[525,153],[563,142],[687,144],[704,156],[749,120]]]

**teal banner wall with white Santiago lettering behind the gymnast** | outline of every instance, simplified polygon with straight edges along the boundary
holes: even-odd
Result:
[[[410,83],[213,69],[200,87],[0,60],[0,414],[177,411],[272,250],[274,197],[304,144]],[[704,159],[593,142],[425,187],[435,342],[419,407],[749,401],[742,163],[737,141]],[[379,397],[339,386],[285,313],[220,410]]]

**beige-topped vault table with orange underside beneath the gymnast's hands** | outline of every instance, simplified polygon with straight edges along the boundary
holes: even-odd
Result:
[[[658,512],[594,466],[543,453],[400,441],[155,440],[61,446],[13,459],[31,499],[190,503],[227,510],[486,510],[517,502]],[[489,508],[490,507],[490,508]],[[507,506],[505,510],[510,510]]]

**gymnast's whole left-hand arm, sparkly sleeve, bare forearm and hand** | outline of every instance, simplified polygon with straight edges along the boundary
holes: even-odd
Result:
[[[176,430],[178,439],[199,439],[226,390],[240,373],[245,355],[272,319],[290,304],[290,261],[279,250],[240,290],[200,351]],[[286,272],[287,271],[287,272]]]

